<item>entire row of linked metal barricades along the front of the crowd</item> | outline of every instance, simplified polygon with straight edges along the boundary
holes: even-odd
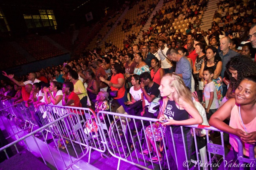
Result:
[[[34,108],[31,106],[31,108],[24,109],[24,106],[22,104],[16,104],[13,106],[8,106],[8,103],[2,103],[2,105],[5,107],[4,109],[0,110],[5,111],[4,113],[12,114],[16,117],[21,117],[20,120],[24,120],[25,122],[29,121],[29,123],[32,124],[32,127],[34,125],[43,126],[44,128],[40,128],[40,130],[36,130],[36,132],[39,132],[43,134],[44,132],[47,132],[46,136],[44,137],[44,140],[47,139],[48,135],[55,136],[58,138],[58,144],[56,147],[60,147],[61,141],[64,141],[64,148],[66,148],[65,141],[70,141],[72,145],[78,145],[80,148],[88,149],[89,151],[89,159],[88,162],[90,163],[90,156],[92,150],[99,151],[103,156],[107,156],[107,152],[109,152],[112,156],[119,159],[117,169],[120,167],[121,160],[128,162],[130,164],[133,164],[135,166],[138,166],[139,168],[143,169],[171,169],[172,166],[174,166],[175,162],[178,162],[180,159],[180,152],[176,152],[174,150],[174,156],[175,160],[168,160],[170,155],[169,151],[167,152],[166,147],[166,138],[165,136],[166,129],[163,126],[160,126],[158,129],[158,134],[154,132],[154,127],[156,124],[154,124],[157,119],[154,118],[144,118],[140,116],[131,116],[127,114],[119,114],[119,113],[113,113],[113,112],[104,112],[100,111],[98,115],[95,115],[95,113],[88,109],[88,108],[76,108],[76,107],[69,107],[69,106],[55,106],[55,105],[44,105],[39,106],[39,108]],[[10,103],[9,103],[10,105]],[[8,107],[6,107],[8,106]],[[21,109],[17,109],[21,108]],[[24,111],[25,110],[25,111]],[[3,112],[1,112],[4,114]],[[69,114],[73,113],[73,114]],[[70,116],[66,116],[69,114]],[[72,116],[71,116],[72,115]],[[76,116],[74,116],[76,115]],[[27,117],[26,117],[27,116]],[[66,119],[61,119],[66,117]],[[104,118],[103,120],[100,120],[100,116]],[[1,119],[3,116],[0,116]],[[78,117],[78,119],[77,119]],[[23,118],[23,119],[22,119]],[[56,120],[61,119],[61,121],[56,122],[56,126],[49,126],[52,125],[52,122],[55,122]],[[2,120],[3,121],[3,120]],[[33,122],[34,121],[34,122]],[[8,121],[10,122],[10,121]],[[41,124],[39,124],[39,123]],[[83,129],[84,135],[80,133],[77,133],[77,129],[80,127],[80,124]],[[78,126],[79,125],[79,126]],[[4,125],[4,126],[8,126]],[[10,127],[12,125],[9,125]],[[224,150],[224,139],[223,139],[223,132],[219,131],[216,128],[213,128],[211,126],[180,126],[181,132],[182,132],[182,142],[184,143],[186,139],[184,138],[184,132],[183,128],[189,127],[192,135],[193,135],[193,145],[195,147],[194,151],[194,161],[188,159],[188,156],[190,154],[184,153],[186,156],[187,162],[184,162],[182,165],[177,165],[180,169],[189,169],[191,166],[194,166],[194,169],[212,169],[214,166],[218,166],[219,169],[226,169],[227,165],[225,165],[223,162],[227,162],[225,159],[225,150]],[[18,132],[22,131],[22,128],[20,126],[16,127],[16,131],[12,132],[12,134],[17,134]],[[23,130],[25,130],[26,127],[23,127]],[[205,132],[207,135],[204,136],[206,144],[203,148],[198,148],[197,146],[197,135],[199,135],[196,131],[200,129],[205,129]],[[81,130],[81,129],[80,129]],[[221,145],[219,144],[213,144],[208,136],[209,130],[211,131],[217,131],[221,133]],[[171,141],[174,141],[174,135],[172,132],[172,129],[170,128],[170,136],[172,138]],[[151,132],[151,142],[146,142],[148,134]],[[154,132],[154,133],[152,133]],[[32,134],[35,134],[34,132]],[[160,141],[157,141],[159,139],[159,136],[161,138]],[[200,137],[200,135],[199,135]],[[169,139],[169,138],[167,138]],[[181,140],[181,139],[180,139]],[[239,143],[239,142],[238,142]],[[175,142],[172,142],[172,145],[174,148],[176,147]],[[130,147],[133,146],[132,150]],[[143,154],[143,150],[147,149],[150,150],[151,146],[153,147],[153,150],[155,150],[156,157],[153,158],[152,154],[148,154],[145,156]],[[239,144],[240,149],[242,148],[242,144]],[[129,149],[127,149],[129,148]],[[158,149],[161,148],[161,149]],[[161,150],[161,152],[158,152]],[[68,151],[67,151],[68,152]],[[140,154],[142,152],[142,154]],[[207,156],[208,152],[208,156]],[[241,153],[240,153],[241,152]],[[239,155],[243,155],[243,152],[240,151]],[[252,149],[251,152],[254,152]],[[87,152],[86,152],[87,153]],[[200,153],[200,154],[199,154]],[[128,154],[128,155],[127,155]],[[161,155],[160,155],[161,154]],[[213,160],[216,160],[216,154],[221,155],[221,161],[216,161],[213,163]],[[253,154],[254,155],[254,154]],[[78,157],[78,154],[75,153],[75,157]],[[162,157],[162,160],[160,160]],[[70,157],[71,158],[71,157]],[[154,164],[153,161],[150,162],[150,160],[157,159],[156,163]],[[248,158],[240,158],[240,162],[248,162],[252,161],[253,157],[251,156]],[[174,164],[173,164],[174,163]],[[217,164],[217,165],[216,165]],[[184,167],[186,166],[186,167]]]

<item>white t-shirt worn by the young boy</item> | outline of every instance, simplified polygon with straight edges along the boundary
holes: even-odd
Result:
[[[219,108],[219,101],[217,99],[217,90],[213,81],[205,85],[205,90],[204,90],[205,108],[207,108],[209,104],[210,92],[214,92],[213,103],[211,104],[210,109],[217,109]]]

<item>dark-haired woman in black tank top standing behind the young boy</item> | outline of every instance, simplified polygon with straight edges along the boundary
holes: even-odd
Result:
[[[223,96],[222,96],[222,78],[219,76],[221,74],[222,70],[222,62],[221,58],[219,56],[219,53],[217,51],[217,48],[213,46],[209,46],[206,49],[206,58],[203,62],[201,69],[199,71],[199,78],[203,78],[203,70],[205,68],[213,68],[214,75],[213,75],[213,82],[215,84],[216,90],[217,90],[217,99],[219,100],[219,103],[221,102]],[[204,82],[204,86],[207,84]],[[203,99],[204,101],[204,99]]]

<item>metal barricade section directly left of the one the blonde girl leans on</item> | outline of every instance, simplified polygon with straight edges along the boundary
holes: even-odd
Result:
[[[71,137],[73,139],[76,139],[74,142],[80,143],[82,146],[89,148],[89,160],[88,163],[90,163],[90,156],[92,150],[96,150],[101,153],[102,157],[108,157],[106,152],[106,145],[104,145],[104,142],[102,142],[102,134],[100,130],[97,130],[96,124],[98,123],[96,119],[95,113],[88,108],[77,108],[77,107],[70,107],[70,106],[56,106],[56,105],[45,105],[40,106],[39,110],[36,115],[39,116],[40,121],[43,125],[49,124],[49,122],[58,119],[61,116],[64,116],[68,113],[76,113],[79,118],[80,122],[84,128],[85,134],[87,134],[87,138],[78,138],[76,134],[71,134]],[[93,116],[94,115],[94,116]],[[94,118],[92,118],[94,117]],[[76,124],[75,120],[70,118],[69,122],[65,122],[66,126],[70,128],[70,130],[75,130],[76,126],[73,126]],[[44,129],[46,131],[46,137],[47,134],[51,131],[49,128]],[[58,134],[55,134],[58,135]],[[66,135],[63,136],[65,138]],[[88,144],[86,144],[86,141],[88,141]]]

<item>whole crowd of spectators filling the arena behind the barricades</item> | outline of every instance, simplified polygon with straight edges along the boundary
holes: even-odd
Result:
[[[157,12],[153,17],[157,18],[156,22],[166,10],[174,9]],[[175,10],[178,15],[180,6]],[[183,128],[186,147],[180,142],[179,126],[183,125],[208,124],[209,121],[210,125],[231,134],[230,144],[235,152],[238,146],[233,135],[239,136],[246,143],[244,155],[249,156],[248,144],[256,142],[256,12],[250,15],[252,21],[247,17],[229,27],[226,22],[223,28],[213,23],[208,32],[200,30],[197,24],[190,24],[193,29],[186,34],[172,32],[168,27],[162,27],[158,33],[152,19],[148,32],[143,32],[145,40],[139,44],[128,44],[123,49],[112,45],[112,49],[104,52],[94,50],[78,60],[42,68],[19,78],[3,72],[9,81],[1,80],[1,100],[25,101],[27,106],[34,104],[35,107],[42,104],[90,107],[98,112],[109,110],[107,100],[111,94],[128,114],[148,118],[154,117],[152,107],[160,105],[157,116],[160,121],[154,124],[154,133],[160,140],[164,136],[160,135],[159,127],[165,129],[166,145],[179,169],[186,156],[190,160],[193,143],[190,128]],[[158,24],[168,23],[172,22],[163,19]],[[203,111],[199,111],[202,107]],[[230,116],[230,123],[224,123]],[[135,126],[138,130],[142,128],[141,122],[131,122],[132,130]],[[154,150],[158,156],[151,161],[158,162],[162,157],[152,142],[152,133],[147,129],[147,143],[153,149],[143,150],[141,154]],[[126,135],[131,147],[131,136]],[[216,133],[215,137],[219,135]],[[125,149],[127,155],[129,148]],[[179,152],[178,159],[174,150]]]

